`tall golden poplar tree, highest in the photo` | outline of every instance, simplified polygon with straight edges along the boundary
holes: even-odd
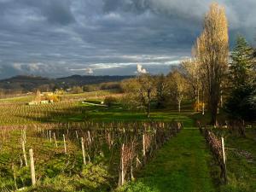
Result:
[[[201,62],[201,72],[206,82],[208,108],[212,124],[217,123],[221,84],[228,67],[228,21],[223,7],[212,3],[205,16],[203,32],[195,44],[195,57]]]

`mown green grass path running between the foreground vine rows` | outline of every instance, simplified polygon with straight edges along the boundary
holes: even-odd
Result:
[[[211,154],[197,129],[184,129],[164,145],[124,191],[211,192]]]

